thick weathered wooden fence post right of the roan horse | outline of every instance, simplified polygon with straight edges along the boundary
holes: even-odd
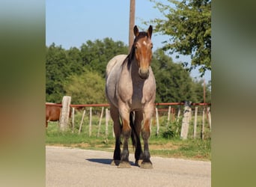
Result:
[[[182,126],[180,131],[180,138],[186,140],[189,133],[189,119],[191,116],[191,102],[185,102],[185,108],[183,112]]]

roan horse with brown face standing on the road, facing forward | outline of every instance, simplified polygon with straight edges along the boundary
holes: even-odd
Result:
[[[138,31],[135,25],[135,39],[129,55],[117,55],[106,66],[105,92],[115,132],[112,165],[118,165],[118,168],[131,167],[129,137],[132,138],[132,145],[135,147],[135,165],[140,168],[153,168],[148,146],[150,119],[155,110],[156,99],[156,80],[150,67],[152,32],[151,25],[147,31]],[[140,135],[144,142],[144,151],[141,149]]]

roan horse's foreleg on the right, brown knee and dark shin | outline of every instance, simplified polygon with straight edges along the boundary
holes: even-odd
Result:
[[[141,168],[153,168],[148,147],[148,139],[150,138],[150,119],[153,115],[153,109],[153,107],[144,108],[144,125],[141,132],[144,141],[144,157],[141,162]]]

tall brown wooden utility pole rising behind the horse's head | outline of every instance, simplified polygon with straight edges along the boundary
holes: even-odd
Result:
[[[134,40],[134,36],[133,36],[134,25],[135,25],[135,0],[129,0],[129,52],[132,49],[132,43]]]

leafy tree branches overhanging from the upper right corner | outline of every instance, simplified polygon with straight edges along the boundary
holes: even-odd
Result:
[[[154,1],[166,19],[151,20],[156,32],[171,37],[163,42],[162,49],[170,54],[190,55],[190,67],[188,62],[183,62],[183,66],[189,71],[200,67],[199,72],[204,76],[206,70],[211,70],[211,1],[168,1],[170,4],[166,5]]]

